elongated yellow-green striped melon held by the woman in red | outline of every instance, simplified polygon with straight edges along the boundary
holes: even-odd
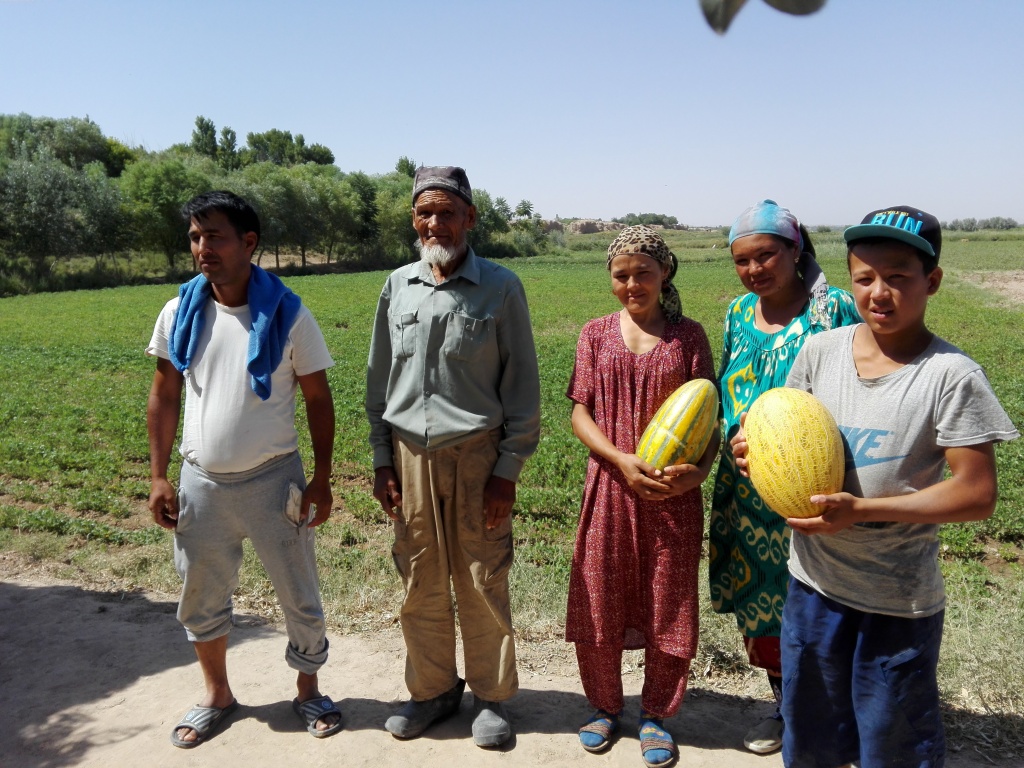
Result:
[[[637,456],[654,469],[696,464],[717,428],[718,390],[708,379],[693,379],[662,403],[640,437]]]

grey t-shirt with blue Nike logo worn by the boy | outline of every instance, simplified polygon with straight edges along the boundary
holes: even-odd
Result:
[[[786,385],[811,392],[839,424],[844,489],[861,498],[912,494],[940,482],[944,449],[1019,437],[981,367],[935,337],[912,362],[877,379],[857,375],[848,326],[808,339]],[[872,613],[941,610],[938,525],[859,523],[835,536],[794,531],[790,572],[822,595]]]

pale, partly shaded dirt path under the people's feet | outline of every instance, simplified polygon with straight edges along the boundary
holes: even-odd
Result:
[[[0,765],[56,766],[601,766],[642,765],[627,730],[600,756],[586,755],[575,728],[589,713],[570,669],[520,669],[509,707],[516,735],[484,751],[469,738],[468,692],[459,716],[427,735],[398,741],[384,720],[406,695],[402,642],[396,632],[332,638],[322,688],[339,703],[345,730],[310,737],[292,713],[285,638],[273,626],[239,616],[228,663],[242,707],[208,743],[171,746],[172,726],[197,697],[199,668],[166,595],[102,592],[42,577],[0,582]],[[527,654],[528,655],[528,654]],[[535,662],[539,658],[534,654]],[[627,680],[627,712],[639,708],[639,678]],[[778,768],[778,755],[741,745],[744,728],[769,705],[741,695],[693,690],[668,721],[680,742],[680,766]],[[965,750],[950,768],[989,765]]]

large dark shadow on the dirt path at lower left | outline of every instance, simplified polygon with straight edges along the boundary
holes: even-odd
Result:
[[[176,609],[130,592],[0,583],[0,755],[37,744],[35,766],[78,762],[94,741],[69,740],[88,730],[88,718],[69,710],[120,706],[140,678],[195,663]],[[273,632],[261,625],[237,616],[232,645]]]

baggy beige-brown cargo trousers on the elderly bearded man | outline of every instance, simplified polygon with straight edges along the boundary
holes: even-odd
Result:
[[[428,451],[392,435],[402,506],[391,553],[406,589],[406,684],[417,701],[458,682],[453,588],[470,690],[504,701],[519,688],[508,586],[511,516],[488,530],[483,510],[500,438],[496,429]]]

